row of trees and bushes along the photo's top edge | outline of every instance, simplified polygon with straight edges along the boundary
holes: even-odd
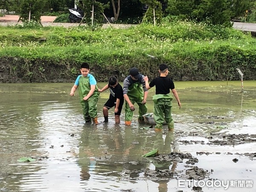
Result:
[[[28,20],[28,13],[31,10],[31,19],[39,21],[40,14],[51,11],[59,12],[67,10],[67,7],[74,7],[79,0],[0,0],[0,9],[7,12],[15,11],[20,14],[23,21]],[[168,2],[165,13],[175,15],[179,18],[188,18],[198,22],[207,21],[212,24],[230,25],[233,18],[245,16],[248,10],[246,21],[255,22],[256,0],[80,0],[83,3],[81,8],[86,16],[86,23],[91,23],[92,5],[94,5],[94,22],[101,23],[102,12],[107,17],[115,17],[115,20],[128,18],[141,18],[145,15],[145,21],[153,23],[153,9],[157,23],[163,17],[162,4]],[[29,6],[31,3],[31,8]],[[76,3],[79,5],[79,3]],[[149,9],[143,10],[147,4]],[[110,6],[111,5],[111,6]]]

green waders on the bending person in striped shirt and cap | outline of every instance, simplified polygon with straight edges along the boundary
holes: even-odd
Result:
[[[133,105],[135,102],[139,105],[139,119],[138,120],[143,120],[143,115],[147,113],[148,108],[146,105],[142,104],[143,98],[144,98],[144,91],[142,88],[142,84],[134,83],[131,86],[129,86],[127,95]],[[126,124],[126,122],[128,122],[128,124],[129,123],[131,124],[132,116],[133,116],[133,112],[131,111],[128,102],[125,102],[125,124]]]

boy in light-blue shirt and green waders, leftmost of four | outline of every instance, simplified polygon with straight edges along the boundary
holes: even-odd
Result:
[[[97,102],[99,99],[99,91],[96,85],[96,79],[89,73],[90,67],[86,62],[81,64],[80,72],[81,75],[77,77],[70,91],[70,96],[74,96],[76,89],[79,89],[79,97],[85,122],[91,122],[91,119],[93,119],[93,125],[98,125]]]

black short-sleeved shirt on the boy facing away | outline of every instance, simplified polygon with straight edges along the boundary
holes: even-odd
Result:
[[[172,79],[169,77],[157,77],[154,78],[150,84],[149,87],[154,87],[156,86],[156,95],[157,94],[168,94],[170,93],[170,89],[175,89],[174,83]]]

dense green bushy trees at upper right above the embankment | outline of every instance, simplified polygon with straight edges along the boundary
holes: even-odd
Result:
[[[242,15],[253,0],[169,0],[167,12],[189,19],[230,25],[230,19]]]

